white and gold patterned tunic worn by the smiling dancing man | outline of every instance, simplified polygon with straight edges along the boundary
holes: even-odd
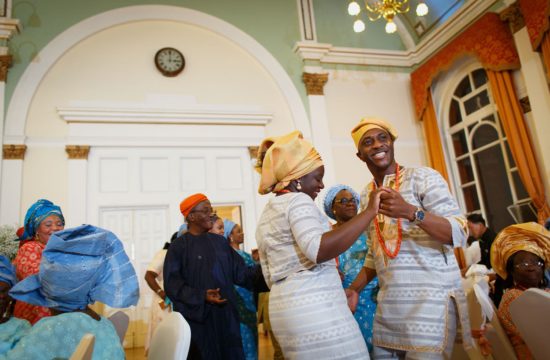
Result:
[[[395,174],[384,178],[383,186],[395,189]],[[361,207],[368,204],[373,188],[361,194]],[[432,239],[420,227],[401,219],[402,243],[391,259],[380,246],[374,221],[368,228],[368,268],[375,269],[380,283],[374,320],[373,344],[405,351],[441,353],[447,345],[448,322],[456,300],[463,341],[471,346],[466,298],[453,247],[466,243],[466,219],[449,192],[447,183],[427,167],[404,168],[400,172],[399,193],[408,203],[446,218],[452,227],[452,246]],[[397,219],[378,215],[386,247],[392,253],[397,243]]]

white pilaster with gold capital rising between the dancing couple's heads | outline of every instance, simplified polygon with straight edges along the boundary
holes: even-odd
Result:
[[[336,181],[334,160],[332,155],[330,131],[327,117],[327,108],[323,87],[328,81],[328,74],[304,73],[302,76],[306,84],[309,114],[311,119],[311,136],[313,145],[321,154],[325,163],[324,183],[328,186]]]

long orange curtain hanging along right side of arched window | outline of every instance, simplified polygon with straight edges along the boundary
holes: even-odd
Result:
[[[539,223],[543,224],[550,217],[550,208],[546,202],[531,138],[514,90],[512,74],[510,71],[487,70],[487,76],[519,176],[537,209]]]

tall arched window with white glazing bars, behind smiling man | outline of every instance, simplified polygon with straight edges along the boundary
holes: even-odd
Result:
[[[536,220],[510,153],[485,70],[468,72],[454,88],[447,144],[457,196],[496,231]]]

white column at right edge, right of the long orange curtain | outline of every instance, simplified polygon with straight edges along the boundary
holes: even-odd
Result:
[[[550,92],[541,55],[533,51],[531,41],[524,27],[514,34],[514,40],[521,61],[521,73],[525,79],[525,87],[531,104],[531,114],[527,116],[527,124],[531,130],[531,138],[536,151],[542,181],[546,184],[546,199],[550,199]],[[529,116],[530,115],[530,116]]]

